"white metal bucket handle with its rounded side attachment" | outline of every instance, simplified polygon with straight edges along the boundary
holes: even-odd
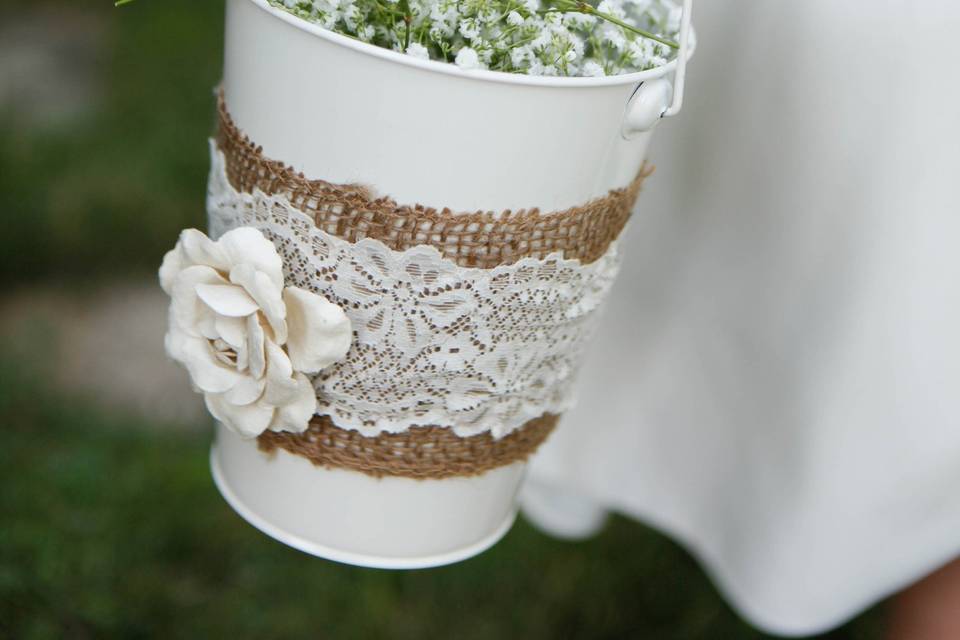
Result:
[[[693,0],[683,0],[680,47],[677,51],[677,66],[673,71],[673,83],[666,78],[654,78],[637,85],[623,113],[620,135],[624,140],[652,130],[662,118],[680,113],[683,107],[683,85],[687,75],[692,10]]]

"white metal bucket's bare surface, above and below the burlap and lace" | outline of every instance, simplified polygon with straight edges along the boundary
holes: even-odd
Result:
[[[686,9],[689,25],[689,0]],[[627,185],[653,124],[679,107],[683,65],[669,109],[665,80],[675,66],[607,78],[465,72],[331,33],[264,0],[227,1],[224,95],[240,130],[309,178],[362,183],[406,204],[550,211]],[[516,515],[525,468],[377,479],[265,454],[222,426],[211,466],[230,505],[265,533],[383,568],[455,562],[495,543]]]

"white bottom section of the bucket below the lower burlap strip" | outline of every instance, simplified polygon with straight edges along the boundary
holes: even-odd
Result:
[[[222,425],[210,449],[217,490],[249,524],[310,555],[377,569],[438,567],[492,547],[516,519],[525,467],[475,478],[373,478],[264,453]]]

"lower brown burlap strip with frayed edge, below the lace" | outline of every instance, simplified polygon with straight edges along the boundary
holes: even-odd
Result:
[[[317,416],[304,433],[267,431],[257,438],[262,451],[283,449],[322,467],[370,476],[439,479],[475,476],[526,460],[547,439],[559,416],[544,414],[495,440],[489,433],[461,438],[446,427],[413,427],[403,433],[366,437]]]

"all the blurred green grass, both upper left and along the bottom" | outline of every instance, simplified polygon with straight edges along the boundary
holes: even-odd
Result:
[[[59,51],[63,72],[88,74],[94,89],[68,117],[43,121],[0,100],[4,292],[153,278],[179,230],[203,224],[222,11],[0,0],[2,28],[54,25],[49,42],[25,46]],[[80,28],[90,42],[59,50],[56,34]],[[37,80],[4,64],[15,86]],[[55,358],[36,345],[52,338],[33,330],[29,348],[0,343],[0,638],[767,637],[681,548],[622,518],[583,543],[521,521],[480,557],[428,571],[288,549],[218,496],[208,430],[51,388]],[[824,637],[876,638],[881,624],[878,609]]]

